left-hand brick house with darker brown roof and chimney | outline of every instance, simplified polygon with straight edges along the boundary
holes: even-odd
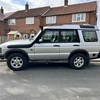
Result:
[[[41,16],[48,9],[50,9],[49,6],[29,9],[29,5],[26,3],[25,10],[17,11],[6,18],[8,28],[10,31],[19,31],[23,38],[28,38],[30,34],[36,34],[39,31]]]

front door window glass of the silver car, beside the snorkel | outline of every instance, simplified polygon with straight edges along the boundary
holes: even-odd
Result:
[[[59,31],[46,30],[42,36],[43,43],[57,43],[59,42]]]

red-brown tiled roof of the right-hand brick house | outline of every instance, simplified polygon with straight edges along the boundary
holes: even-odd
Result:
[[[81,4],[74,4],[68,6],[54,7],[51,8],[44,16],[52,16],[52,15],[64,15],[64,14],[72,14],[79,12],[90,12],[96,11],[97,2],[88,2]]]

